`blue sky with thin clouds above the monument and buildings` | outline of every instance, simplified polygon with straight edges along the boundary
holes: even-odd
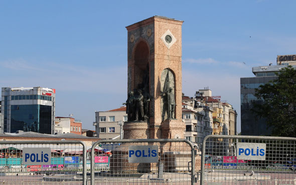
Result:
[[[162,15],[184,20],[185,95],[208,86],[238,111],[240,77],[295,54],[294,0],[0,1],[0,87],[56,88],[56,115],[94,129],[95,110],[127,92],[125,26]]]

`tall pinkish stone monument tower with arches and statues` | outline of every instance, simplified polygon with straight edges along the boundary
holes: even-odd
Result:
[[[182,24],[153,16],[126,27],[128,121],[124,138],[184,138]]]

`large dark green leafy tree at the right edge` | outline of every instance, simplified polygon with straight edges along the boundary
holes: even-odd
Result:
[[[253,103],[252,110],[266,119],[272,135],[296,137],[296,69],[288,65],[276,75],[255,89],[259,101]]]

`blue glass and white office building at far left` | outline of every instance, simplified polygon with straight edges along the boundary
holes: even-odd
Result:
[[[2,87],[1,132],[55,131],[55,89]]]

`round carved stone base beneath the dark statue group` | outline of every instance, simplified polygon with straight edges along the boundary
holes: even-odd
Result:
[[[149,138],[148,122],[124,122],[123,124],[124,139],[146,139]]]

